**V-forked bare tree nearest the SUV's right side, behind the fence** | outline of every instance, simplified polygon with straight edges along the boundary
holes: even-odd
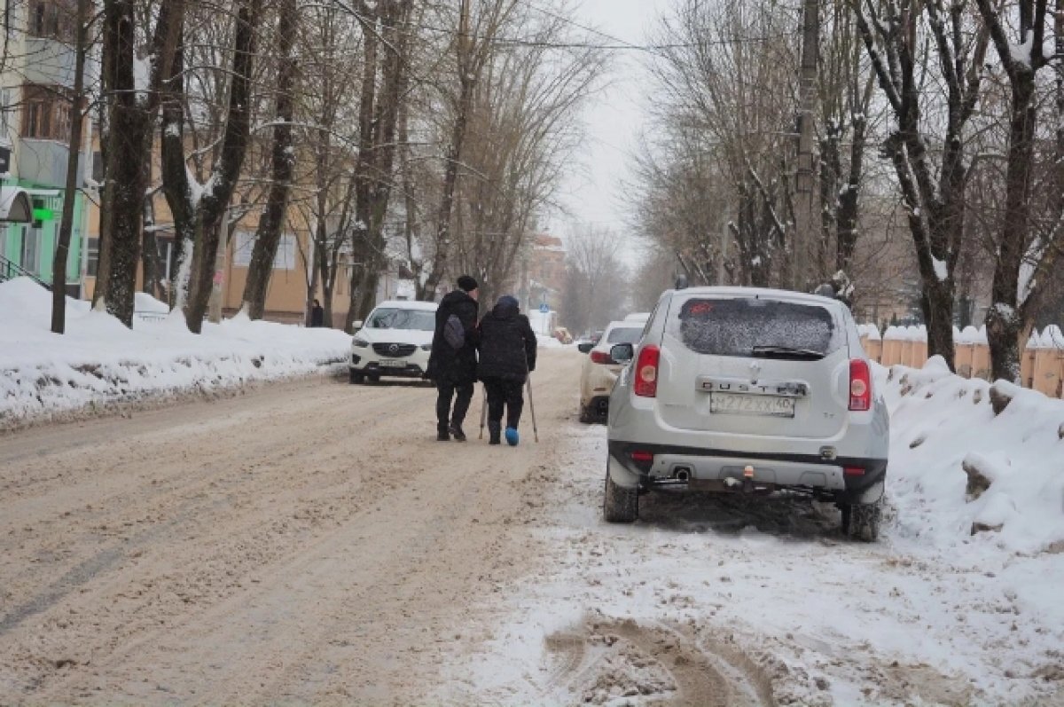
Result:
[[[942,0],[851,0],[858,29],[895,127],[883,145],[908,209],[919,269],[928,352],[953,366],[953,272],[964,236],[969,177],[965,128],[979,100],[988,33],[963,3]],[[972,27],[975,29],[972,30]],[[930,45],[933,51],[925,51]],[[945,117],[929,147],[926,113],[935,94],[932,66],[945,87]]]

